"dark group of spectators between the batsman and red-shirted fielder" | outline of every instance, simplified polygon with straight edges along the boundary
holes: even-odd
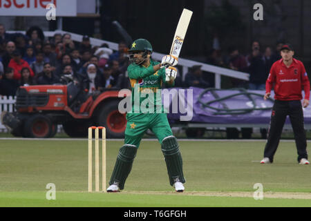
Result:
[[[246,55],[241,55],[239,49],[234,46],[225,53],[220,49],[213,49],[209,52],[205,63],[249,73],[249,81],[229,78],[227,88],[265,90],[265,81],[272,64],[281,59],[280,50],[282,46],[283,43],[280,42],[276,44],[275,49],[270,46],[261,48],[259,42],[254,41],[251,51]],[[200,66],[194,66],[189,68],[183,86],[214,87],[214,74],[202,72]],[[226,88],[226,86],[222,85],[222,88]]]

